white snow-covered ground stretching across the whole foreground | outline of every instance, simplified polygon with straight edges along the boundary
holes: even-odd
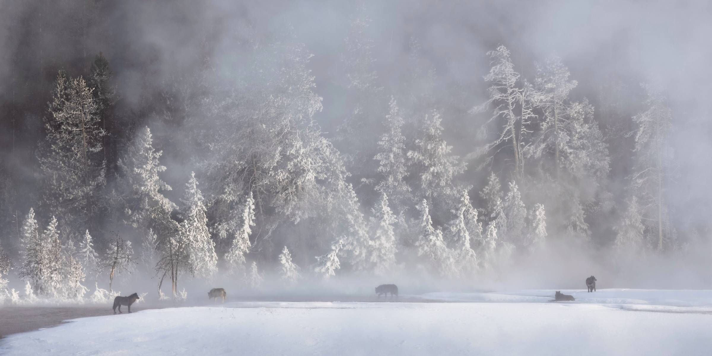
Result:
[[[604,304],[585,303],[582,293],[574,303],[528,299],[547,293],[422,296],[521,303],[238,302],[143,310],[10,335],[0,342],[0,355],[689,356],[712,350],[712,307],[705,306],[712,305],[712,291],[589,293],[617,300]]]

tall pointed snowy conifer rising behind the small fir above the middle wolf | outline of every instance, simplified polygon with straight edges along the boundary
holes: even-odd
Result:
[[[410,187],[404,178],[408,175],[406,166],[405,137],[402,133],[403,117],[398,110],[395,98],[391,97],[389,112],[384,120],[385,132],[378,142],[378,153],[374,157],[379,162],[378,172],[381,181],[376,185],[377,192],[390,197],[391,205],[397,214],[403,214],[410,199]]]

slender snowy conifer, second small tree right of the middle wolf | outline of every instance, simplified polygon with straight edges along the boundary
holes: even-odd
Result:
[[[472,219],[470,216],[472,211],[474,209],[470,204],[470,197],[467,191],[463,190],[459,206],[453,211],[455,219],[450,221],[447,230],[448,245],[451,247],[453,258],[462,276],[471,276],[471,273],[477,269],[477,256],[471,247],[471,236],[468,231],[468,223],[472,226],[472,221],[468,221]],[[479,229],[481,235],[481,226]]]

